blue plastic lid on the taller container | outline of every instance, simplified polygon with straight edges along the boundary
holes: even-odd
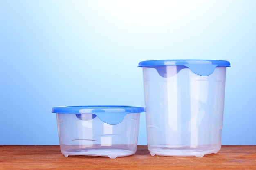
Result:
[[[211,75],[216,67],[230,67],[230,63],[224,60],[150,60],[141,61],[138,67],[157,67],[167,65],[185,66],[200,76]]]

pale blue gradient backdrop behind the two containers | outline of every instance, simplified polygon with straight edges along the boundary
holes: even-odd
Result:
[[[255,9],[255,0],[1,0],[0,144],[58,145],[55,106],[144,106],[140,61],[215,59],[231,63],[222,144],[256,145]]]

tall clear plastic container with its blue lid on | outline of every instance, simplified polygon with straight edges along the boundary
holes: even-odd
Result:
[[[142,61],[148,150],[196,156],[221,148],[228,61]]]

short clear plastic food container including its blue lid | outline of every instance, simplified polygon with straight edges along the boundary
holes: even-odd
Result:
[[[140,113],[135,106],[54,107],[60,148],[69,155],[110,158],[134,154],[137,150]]]

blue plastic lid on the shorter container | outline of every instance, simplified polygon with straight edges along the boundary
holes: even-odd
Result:
[[[53,107],[52,113],[76,114],[76,117],[81,119],[81,114],[94,114],[101,121],[110,125],[116,125],[123,121],[128,113],[145,112],[144,107],[137,106],[60,106]]]

